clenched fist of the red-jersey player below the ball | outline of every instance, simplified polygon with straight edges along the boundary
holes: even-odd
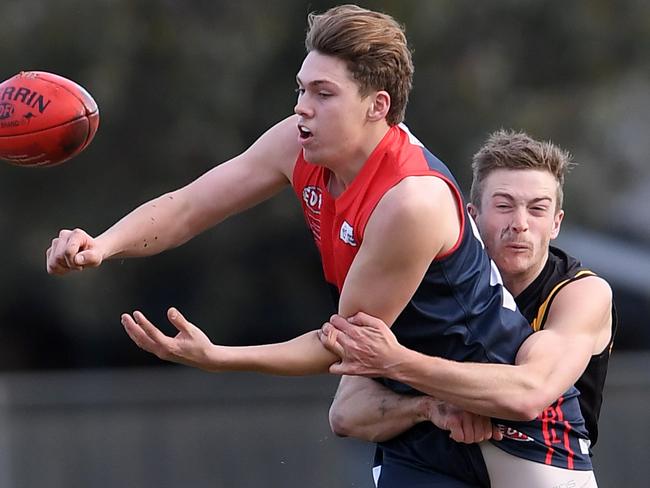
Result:
[[[52,239],[45,256],[47,272],[53,275],[96,268],[104,258],[96,240],[81,229],[63,229]]]

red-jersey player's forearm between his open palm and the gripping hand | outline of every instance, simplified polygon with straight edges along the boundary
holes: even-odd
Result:
[[[283,376],[326,374],[338,357],[327,351],[316,331],[287,342],[260,346],[213,346],[202,369],[250,371]]]

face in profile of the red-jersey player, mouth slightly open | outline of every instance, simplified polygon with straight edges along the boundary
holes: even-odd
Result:
[[[310,52],[296,76],[300,116],[296,137],[305,159],[328,167],[365,156],[364,134],[372,96],[361,97],[346,64],[334,56]]]

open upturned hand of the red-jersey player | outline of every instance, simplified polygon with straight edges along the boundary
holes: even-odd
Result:
[[[167,318],[178,330],[174,337],[163,334],[138,311],[122,314],[122,325],[138,347],[160,359],[214,371],[208,364],[208,351],[213,346],[208,336],[175,308],[167,311]]]

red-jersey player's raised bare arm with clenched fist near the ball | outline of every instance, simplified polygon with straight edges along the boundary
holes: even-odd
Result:
[[[139,206],[97,237],[62,230],[46,252],[47,271],[62,275],[113,257],[157,254],[276,194],[300,150],[296,118],[263,134],[248,150],[190,184]]]

